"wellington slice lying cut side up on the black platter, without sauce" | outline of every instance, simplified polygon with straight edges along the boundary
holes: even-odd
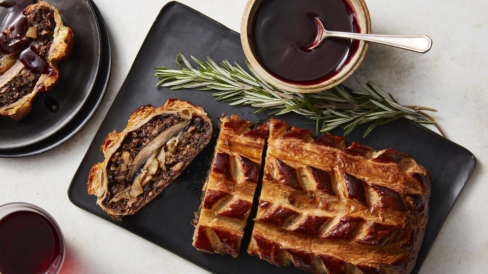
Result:
[[[211,133],[207,114],[190,102],[171,98],[161,108],[140,107],[122,132],[105,138],[105,160],[90,169],[88,194],[113,219],[132,215],[181,174]]]

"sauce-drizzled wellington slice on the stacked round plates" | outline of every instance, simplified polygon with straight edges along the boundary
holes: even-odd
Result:
[[[0,33],[0,115],[24,118],[36,94],[59,81],[58,63],[71,54],[73,42],[71,28],[46,2],[17,15]]]

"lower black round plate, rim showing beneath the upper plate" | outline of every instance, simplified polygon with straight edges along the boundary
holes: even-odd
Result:
[[[62,130],[52,135],[50,138],[32,146],[13,150],[0,150],[0,157],[14,158],[32,156],[46,152],[63,144],[64,142],[68,141],[72,136],[74,136],[78,131],[80,131],[86,123],[88,123],[90,118],[92,118],[92,116],[95,114],[96,110],[100,106],[103,96],[105,95],[105,91],[107,90],[108,82],[110,80],[110,71],[112,67],[112,51],[110,36],[102,15],[100,14],[97,6],[91,0],[89,0],[89,2],[93,5],[93,9],[95,11],[95,14],[97,15],[102,38],[100,72],[93,88],[92,94],[90,94],[85,106],[81,109],[78,115]]]

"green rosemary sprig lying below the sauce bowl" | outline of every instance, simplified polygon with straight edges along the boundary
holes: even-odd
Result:
[[[197,68],[193,68],[181,53],[176,57],[179,70],[157,67],[155,76],[161,81],[156,87],[219,90],[212,94],[217,101],[229,102],[232,106],[251,105],[259,108],[255,113],[270,111],[268,115],[295,112],[313,120],[317,133],[319,128],[321,132],[327,132],[341,127],[345,136],[361,124],[372,122],[365,130],[364,138],[376,126],[404,117],[419,124],[433,124],[444,135],[434,118],[423,112],[436,110],[401,105],[390,93],[383,92],[370,81],[366,84],[359,82],[363,88],[360,91],[339,85],[316,93],[294,93],[264,81],[247,61],[250,73],[227,60],[219,66],[210,58],[206,62],[191,58]]]

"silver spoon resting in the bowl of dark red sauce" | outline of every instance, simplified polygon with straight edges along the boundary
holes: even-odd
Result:
[[[306,49],[312,50],[322,44],[322,41],[328,37],[340,37],[347,39],[363,40],[373,43],[379,43],[396,48],[411,50],[419,53],[428,52],[432,47],[432,39],[426,35],[370,35],[362,33],[342,32],[342,31],[330,31],[325,29],[322,21],[314,17],[317,23],[317,36],[315,41]]]

